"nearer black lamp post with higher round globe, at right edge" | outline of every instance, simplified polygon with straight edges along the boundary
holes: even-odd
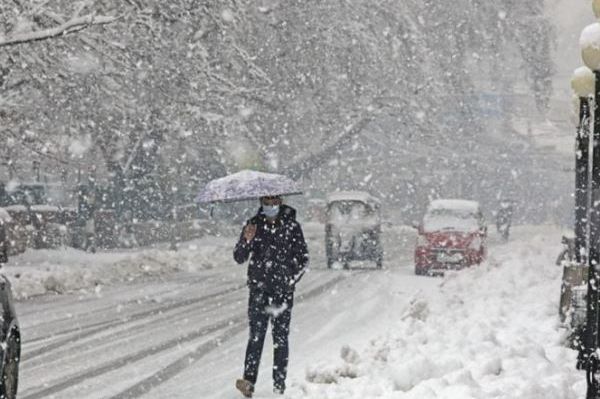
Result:
[[[594,0],[594,11],[600,11],[598,0]],[[598,331],[599,321],[599,280],[600,280],[600,252],[598,248],[600,213],[596,202],[600,199],[598,191],[600,188],[600,23],[588,25],[581,33],[579,39],[581,46],[581,58],[584,64],[593,71],[595,75],[594,82],[594,101],[592,106],[592,137],[590,138],[590,160],[588,163],[588,179],[591,196],[591,206],[589,209],[589,248],[588,248],[588,293],[587,293],[587,312],[586,312],[586,339],[585,348],[587,351],[587,399],[600,399],[600,363],[598,359]]]

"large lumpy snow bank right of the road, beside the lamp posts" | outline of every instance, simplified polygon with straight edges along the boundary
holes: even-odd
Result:
[[[335,363],[310,367],[290,397],[584,397],[585,376],[558,323],[560,235],[519,235],[487,264],[447,275],[439,292],[417,293],[364,353],[344,347]]]

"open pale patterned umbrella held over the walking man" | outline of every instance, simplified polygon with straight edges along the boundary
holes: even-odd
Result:
[[[209,182],[198,194],[198,202],[233,202],[301,193],[298,184],[284,175],[243,170]]]

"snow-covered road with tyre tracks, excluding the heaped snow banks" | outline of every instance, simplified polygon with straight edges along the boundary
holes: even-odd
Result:
[[[358,265],[342,271],[324,267],[322,229],[307,227],[313,260],[293,312],[290,385],[303,380],[315,359],[337,356],[344,344],[360,346],[389,325],[415,291],[437,284],[412,275],[405,233],[388,231],[386,270]],[[230,260],[234,241],[212,241],[221,246],[218,267],[19,303],[20,397],[235,395],[247,338],[247,289],[245,268]],[[267,349],[258,394],[271,390],[270,364]]]

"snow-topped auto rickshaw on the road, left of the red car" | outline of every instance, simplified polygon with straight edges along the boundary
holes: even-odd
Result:
[[[325,249],[327,267],[340,262],[346,269],[354,260],[383,267],[379,201],[361,191],[335,192],[327,197]]]

